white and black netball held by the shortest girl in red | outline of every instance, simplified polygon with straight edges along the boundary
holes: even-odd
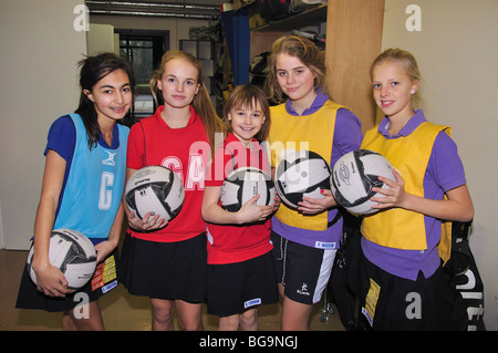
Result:
[[[259,195],[256,205],[270,206],[273,204],[274,186],[271,177],[259,168],[238,168],[231,172],[221,185],[221,207],[230,212],[236,212],[256,195]]]

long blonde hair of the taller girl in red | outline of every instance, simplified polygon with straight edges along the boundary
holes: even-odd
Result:
[[[167,51],[160,61],[159,68],[154,71],[154,74],[151,79],[151,91],[154,96],[154,101],[157,105],[164,104],[163,96],[157,89],[157,81],[159,81],[163,77],[166,64],[173,60],[185,60],[189,62],[194,68],[197,69],[198,75],[197,75],[197,83],[199,84],[199,92],[194,97],[194,101],[191,102],[191,106],[194,107],[194,111],[200,116],[200,121],[203,122],[204,128],[206,129],[206,135],[208,137],[209,145],[211,147],[211,154],[215,150],[216,146],[222,142],[222,136],[226,134],[226,126],[224,122],[219,118],[219,116],[216,114],[216,110],[212,106],[211,98],[209,97],[209,93],[206,89],[206,85],[203,81],[203,64],[199,60],[197,60],[194,55],[187,52],[183,51]],[[220,135],[221,138],[217,138],[217,134]]]

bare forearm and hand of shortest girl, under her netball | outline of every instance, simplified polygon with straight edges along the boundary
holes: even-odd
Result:
[[[267,219],[274,210],[273,206],[258,206],[255,203],[259,195],[251,197],[237,212],[229,212],[218,205],[220,186],[206,186],[203,206],[200,208],[204,220],[219,225],[242,225]]]

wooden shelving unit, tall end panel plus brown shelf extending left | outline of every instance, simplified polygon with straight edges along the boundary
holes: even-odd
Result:
[[[329,93],[353,111],[365,132],[375,122],[370,65],[381,53],[384,0],[329,0],[283,20],[251,29],[250,55],[271,50],[271,44],[294,29],[326,22],[325,61],[330,69]]]

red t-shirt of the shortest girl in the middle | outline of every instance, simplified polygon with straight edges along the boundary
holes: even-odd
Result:
[[[252,142],[252,148],[247,148],[236,136],[228,134],[224,147],[216,150],[206,186],[220,187],[228,174],[245,166],[268,173],[264,149],[256,139]],[[208,224],[208,263],[240,262],[270,251],[273,248],[270,242],[270,219],[251,226]]]

